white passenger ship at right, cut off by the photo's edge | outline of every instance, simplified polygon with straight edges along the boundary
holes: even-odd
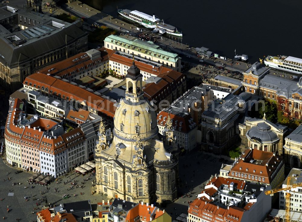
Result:
[[[268,56],[264,60],[265,65],[292,72],[302,74],[302,59],[292,56]]]

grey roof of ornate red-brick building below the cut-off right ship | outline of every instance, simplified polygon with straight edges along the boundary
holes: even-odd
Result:
[[[297,82],[274,75],[266,75],[259,81],[259,86],[276,91],[277,95],[283,95],[286,98],[291,97],[292,93],[299,90]]]

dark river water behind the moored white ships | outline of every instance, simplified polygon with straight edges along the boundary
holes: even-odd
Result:
[[[302,58],[301,0],[83,0],[83,3],[114,17],[117,7],[154,13],[182,31],[182,43],[204,46],[229,58],[233,58],[235,49],[238,55],[248,55],[249,62],[264,55]]]

